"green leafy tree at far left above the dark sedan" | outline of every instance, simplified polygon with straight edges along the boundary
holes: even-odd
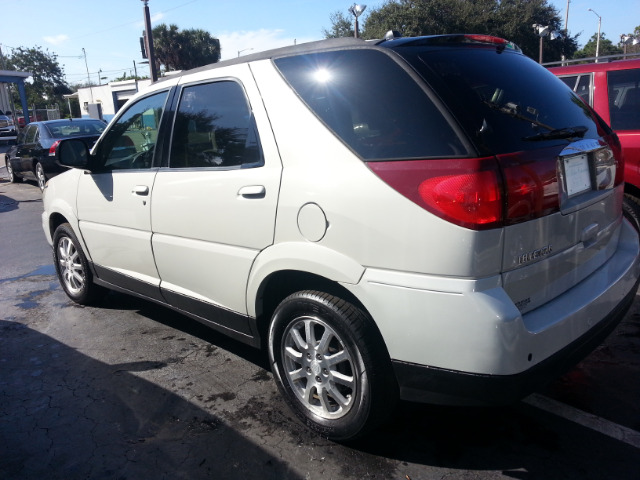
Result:
[[[64,71],[58,64],[57,55],[43,51],[41,47],[18,47],[7,57],[7,69],[31,72],[31,82],[25,82],[27,104],[31,107],[46,108],[57,103],[61,109],[66,108],[62,95],[71,93],[64,80]],[[19,105],[17,89],[14,90],[14,102]]]

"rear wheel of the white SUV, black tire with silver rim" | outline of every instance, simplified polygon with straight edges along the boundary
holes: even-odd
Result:
[[[362,436],[392,412],[397,384],[371,318],[338,297],[303,291],[276,309],[269,357],[287,404],[332,440]]]

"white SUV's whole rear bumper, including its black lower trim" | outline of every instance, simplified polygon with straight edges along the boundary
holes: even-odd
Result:
[[[496,277],[369,269],[352,291],[380,329],[403,399],[510,403],[586,356],[633,303],[640,278],[638,235],[625,221],[617,240],[600,268],[526,314]]]

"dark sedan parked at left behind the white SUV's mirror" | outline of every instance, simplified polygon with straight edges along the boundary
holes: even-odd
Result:
[[[91,146],[106,126],[102,120],[82,118],[30,123],[5,155],[9,181],[33,179],[40,189],[44,189],[49,178],[64,170],[55,160],[60,140],[83,137],[82,141]]]

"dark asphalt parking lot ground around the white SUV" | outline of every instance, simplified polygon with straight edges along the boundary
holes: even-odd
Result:
[[[640,479],[640,302],[545,391],[406,404],[366,439],[310,433],[265,356],[168,309],[58,285],[35,184],[0,158],[2,479]]]

